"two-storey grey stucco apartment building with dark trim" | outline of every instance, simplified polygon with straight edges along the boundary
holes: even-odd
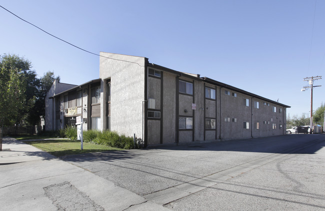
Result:
[[[56,115],[46,126],[84,121],[83,129],[135,133],[145,145],[286,134],[288,105],[145,57],[100,55],[98,79],[48,94]]]

